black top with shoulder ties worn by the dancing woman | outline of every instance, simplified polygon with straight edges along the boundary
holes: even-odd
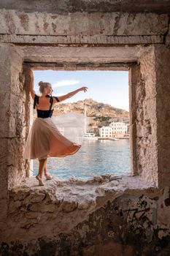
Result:
[[[50,109],[49,110],[40,110],[40,109],[37,109],[37,106],[36,106],[36,103],[39,104],[39,96],[35,94],[35,97],[34,97],[34,109],[36,108],[37,117],[47,118],[47,117],[53,116],[53,110],[54,109],[51,109],[51,107],[53,105],[53,97],[55,97],[55,96],[52,97],[52,96],[47,94],[47,95],[45,95],[45,97],[50,98]],[[59,102],[58,97],[55,97],[55,99]]]

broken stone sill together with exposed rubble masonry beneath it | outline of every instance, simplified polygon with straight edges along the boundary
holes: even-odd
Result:
[[[53,178],[45,186],[37,186],[35,176],[25,178],[9,190],[7,239],[28,239],[26,231],[34,238],[69,233],[90,214],[122,195],[150,195],[155,192],[139,176],[104,175],[93,178]],[[152,189],[152,190],[151,190]],[[31,236],[31,235],[30,235]]]

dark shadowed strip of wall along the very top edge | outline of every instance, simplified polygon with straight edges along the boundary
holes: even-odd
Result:
[[[167,0],[1,0],[0,8],[20,10],[24,12],[52,12],[66,15],[68,12],[158,12],[169,13],[170,4]]]

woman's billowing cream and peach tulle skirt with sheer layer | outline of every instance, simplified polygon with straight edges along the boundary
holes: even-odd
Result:
[[[76,153],[83,141],[85,118],[74,112],[36,118],[26,140],[24,159],[66,157]]]

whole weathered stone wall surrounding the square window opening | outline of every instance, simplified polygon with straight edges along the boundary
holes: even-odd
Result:
[[[1,255],[169,256],[169,15],[7,9],[0,10]],[[31,122],[23,61],[41,69],[135,64],[131,127],[139,176],[100,177],[78,190],[78,181],[72,189],[54,182],[43,190],[23,179]]]

